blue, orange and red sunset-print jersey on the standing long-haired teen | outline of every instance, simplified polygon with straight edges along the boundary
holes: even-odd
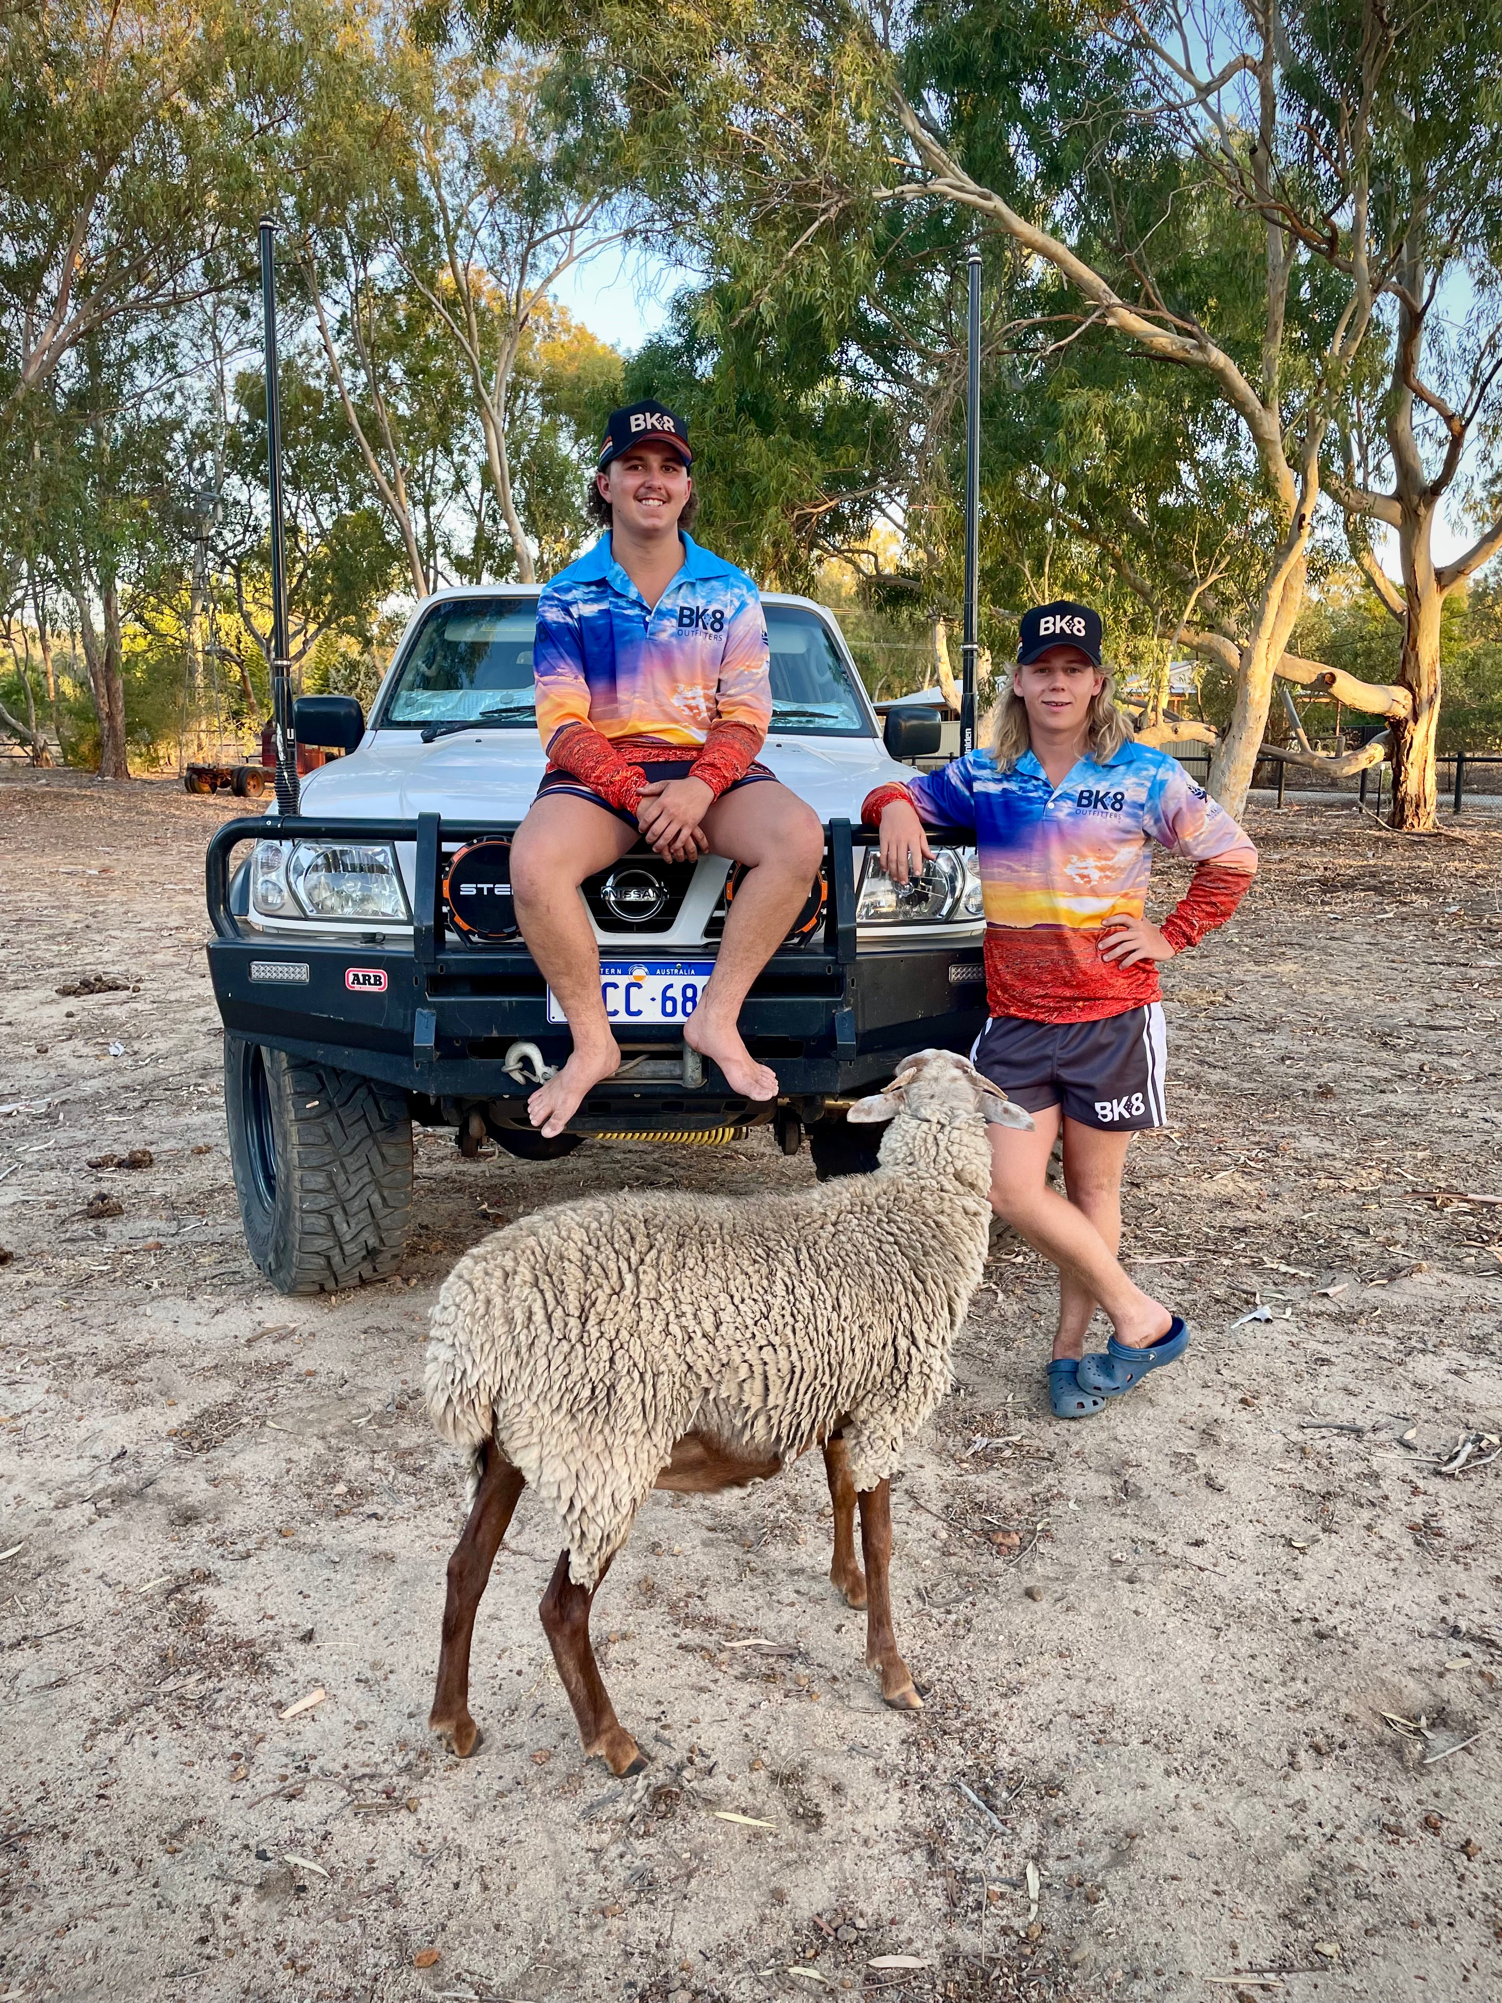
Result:
[[[1099,953],[1107,917],[1142,917],[1154,841],[1200,865],[1162,925],[1174,951],[1224,925],[1258,867],[1230,813],[1178,759],[1140,743],[1103,765],[1079,759],[1057,789],[1031,751],[1011,771],[969,751],[909,785],[877,787],[867,825],[901,797],[929,827],[975,833],[991,1016],[1099,1022],[1160,999],[1156,961],[1119,967]]]

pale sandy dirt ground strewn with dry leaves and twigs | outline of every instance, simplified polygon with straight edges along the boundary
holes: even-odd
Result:
[[[755,1194],[807,1152],[539,1168],[423,1134],[405,1278],[278,1298],[200,949],[228,811],[0,783],[0,1999],[1498,1995],[1496,1442],[1440,1472],[1502,1434],[1496,819],[1254,809],[1262,879],[1168,969],[1174,1126],[1130,1162],[1188,1364],[1053,1422],[1049,1276],[997,1248],[893,1500],[921,1717],[827,1584],[817,1456],[655,1496],[595,1622],[653,1753],[615,1783],[549,1664],[527,1500],[477,1626],[485,1745],[429,1743],[463,1472],[427,1310],[497,1220]],[[128,985],[60,993],[100,973]]]

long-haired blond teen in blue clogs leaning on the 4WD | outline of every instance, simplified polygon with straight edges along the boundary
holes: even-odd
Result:
[[[1115,1258],[1121,1170],[1132,1134],[1166,1118],[1156,961],[1232,915],[1256,849],[1176,759],[1132,741],[1101,671],[1099,617],[1067,601],[1023,615],[991,749],[877,787],[863,817],[899,883],[929,855],[925,823],[975,831],[991,1020],[971,1056],[1035,1122],[991,1128],[991,1202],[1059,1268],[1049,1394],[1059,1418],[1087,1418],[1190,1342]],[[1198,863],[1162,925],[1144,917],[1152,841]],[[1067,1198],[1047,1184],[1059,1128]],[[1095,1304],[1113,1334],[1105,1354],[1083,1356]]]

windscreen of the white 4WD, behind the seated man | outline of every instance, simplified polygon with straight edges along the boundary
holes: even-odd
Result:
[[[829,629],[801,605],[767,605],[771,729],[797,737],[869,737],[849,669]],[[413,635],[381,729],[479,723],[537,729],[533,633],[537,599],[451,599]]]

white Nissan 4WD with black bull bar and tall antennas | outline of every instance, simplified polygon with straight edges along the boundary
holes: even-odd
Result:
[[[897,759],[937,751],[933,715],[885,743],[829,611],[767,593],[773,713],[765,749],[825,823],[819,879],[741,1012],[775,1104],[737,1098],[683,1042],[715,963],[735,871],[645,845],[585,883],[623,1064],[569,1130],[543,1140],[527,1096],[569,1052],[511,905],[511,835],[543,775],[533,713],[535,587],[425,599],[370,719],[302,697],[300,743],[342,749],[294,815],[226,823],[208,847],[208,961],[224,1020],[224,1098],[250,1254],[286,1294],[374,1280],[401,1262],[413,1122],[545,1160],[595,1140],[807,1132],[819,1174],[871,1166],[875,1130],[845,1106],[915,1046],[967,1048],[985,1014],[981,885],[961,835],[899,889],[861,801]],[[236,849],[250,853],[236,859]]]

